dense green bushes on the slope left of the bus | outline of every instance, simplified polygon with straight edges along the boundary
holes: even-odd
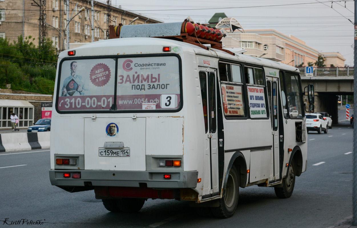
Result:
[[[0,38],[0,88],[11,84],[11,89],[53,95],[57,50],[47,39],[42,46],[34,44],[31,36],[10,42]]]

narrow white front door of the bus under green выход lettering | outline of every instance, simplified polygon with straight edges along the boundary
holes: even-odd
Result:
[[[269,94],[269,108],[272,121],[272,137],[273,137],[273,181],[280,179],[279,176],[279,128],[278,128],[278,78],[269,78],[267,81]]]

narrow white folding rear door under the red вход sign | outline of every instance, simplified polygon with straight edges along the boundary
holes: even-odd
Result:
[[[202,198],[219,193],[216,70],[200,67],[200,85],[205,120],[205,174]]]

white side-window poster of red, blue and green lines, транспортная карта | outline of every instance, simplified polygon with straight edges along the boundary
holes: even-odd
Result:
[[[247,86],[249,111],[251,118],[266,118],[264,88]]]

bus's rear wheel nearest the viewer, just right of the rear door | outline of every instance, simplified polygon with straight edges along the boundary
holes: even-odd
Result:
[[[220,201],[219,207],[212,207],[212,213],[217,218],[230,218],[236,211],[239,195],[239,175],[237,168],[233,165],[228,173],[226,193]]]

